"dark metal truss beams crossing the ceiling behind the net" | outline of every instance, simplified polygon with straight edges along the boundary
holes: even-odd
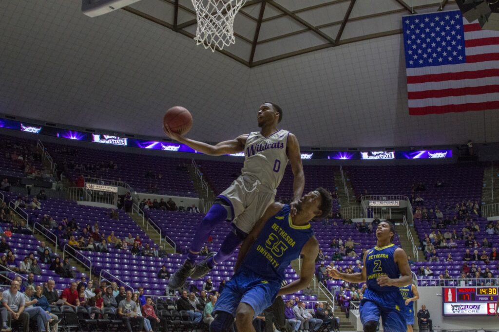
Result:
[[[179,18],[179,10],[180,9],[192,14],[193,16],[196,16],[196,12],[193,9],[186,7],[186,6],[182,5],[181,3],[179,3],[179,0],[161,0],[161,1],[166,2],[166,3],[174,6],[175,10],[174,10],[173,24],[166,22],[164,20],[161,20],[161,19],[154,17],[152,15],[149,15],[147,13],[144,13],[140,10],[134,9],[130,6],[123,7],[122,9],[127,11],[127,12],[133,13],[137,16],[140,16],[144,19],[147,19],[151,22],[154,22],[154,23],[159,24],[161,26],[172,29],[178,33],[182,33],[183,35],[188,36],[189,38],[194,38],[195,35],[189,31],[187,31],[186,28],[188,28],[194,24],[197,24],[197,20],[191,19],[191,20],[185,21],[183,23],[179,23],[178,18]],[[406,1],[404,1],[404,0],[395,0],[395,1],[401,5],[400,9],[394,9],[394,10],[390,10],[390,11],[374,13],[374,14],[369,14],[369,15],[364,15],[364,16],[357,16],[357,17],[351,18],[350,14],[352,12],[352,9],[355,5],[356,0],[331,0],[328,2],[315,4],[315,5],[311,5],[308,7],[295,9],[295,10],[289,10],[286,7],[282,6],[281,4],[275,2],[275,0],[248,0],[241,8],[238,15],[242,14],[255,23],[255,31],[254,31],[253,39],[251,40],[251,39],[249,39],[249,38],[247,38],[247,37],[245,37],[237,32],[234,33],[234,35],[239,40],[242,40],[242,41],[250,44],[251,50],[250,50],[250,54],[248,54],[248,59],[243,59],[240,56],[237,56],[226,49],[217,50],[217,51],[224,54],[224,55],[231,57],[232,59],[234,59],[234,60],[236,60],[236,61],[238,61],[238,62],[240,62],[248,67],[255,67],[255,66],[266,64],[266,63],[278,61],[281,59],[289,58],[292,56],[296,56],[299,54],[309,53],[309,52],[313,52],[316,50],[328,48],[328,47],[335,47],[335,46],[344,45],[344,44],[351,43],[351,42],[367,40],[367,39],[372,39],[372,38],[379,38],[379,37],[383,37],[383,36],[389,36],[389,35],[393,35],[393,34],[402,33],[402,29],[395,29],[395,30],[391,30],[391,31],[372,33],[372,34],[363,35],[363,36],[359,36],[359,37],[341,39],[343,31],[345,30],[347,23],[351,22],[351,21],[358,21],[358,20],[372,18],[372,17],[385,16],[385,15],[390,15],[390,14],[404,12],[404,11],[408,11],[411,14],[415,14],[415,13],[417,13],[416,9],[425,9],[425,8],[431,8],[431,7],[438,7],[437,10],[444,10],[444,8],[448,4],[448,2],[455,2],[455,0],[451,0],[451,1],[443,0],[443,1],[437,2],[437,3],[425,4],[425,5],[419,5],[419,6],[409,6],[406,3]],[[299,13],[303,13],[303,12],[310,11],[310,10],[315,10],[315,9],[326,7],[326,6],[335,5],[335,4],[338,4],[341,2],[349,2],[349,5],[348,5],[348,8],[344,14],[343,19],[339,20],[339,21],[329,22],[329,23],[325,23],[325,24],[321,24],[321,25],[313,25],[310,22],[308,22],[305,19],[298,16]],[[260,8],[259,8],[257,18],[253,17],[252,15],[250,15],[249,13],[247,13],[243,10],[244,8],[247,8],[249,6],[252,6],[252,5],[255,5],[258,3],[260,3]],[[280,11],[280,13],[275,14],[273,16],[263,18],[264,13],[265,13],[265,9],[268,8],[267,5],[271,5],[272,7],[274,7],[278,11]],[[295,31],[291,31],[288,33],[284,33],[284,34],[275,36],[275,37],[270,37],[267,39],[260,40],[259,34],[260,34],[260,29],[261,29],[262,23],[266,23],[266,22],[269,22],[269,21],[272,21],[272,20],[275,20],[275,19],[278,19],[281,17],[288,17],[288,18],[294,20],[295,22],[298,22],[300,25],[303,26],[303,29],[298,29]],[[335,25],[340,25],[340,27],[339,27],[339,30],[334,38],[329,36],[328,34],[324,33],[321,30],[323,28],[331,27],[331,26],[335,26]],[[304,33],[307,31],[311,31],[312,33],[316,34],[321,39],[323,39],[325,42],[323,44],[316,45],[313,47],[307,47],[307,48],[303,48],[303,49],[300,49],[297,51],[283,53],[283,54],[279,54],[279,55],[269,57],[266,59],[254,61],[254,57],[255,57],[255,53],[257,51],[258,45],[272,42],[272,41],[277,41],[277,40],[284,39],[284,38],[287,38],[287,37],[290,37],[293,35],[298,35],[300,33]]]

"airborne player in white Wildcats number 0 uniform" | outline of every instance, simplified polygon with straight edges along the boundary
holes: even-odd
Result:
[[[245,153],[242,174],[217,197],[199,224],[186,261],[170,277],[170,288],[181,288],[189,276],[192,279],[202,278],[215,265],[234,254],[255,222],[274,201],[277,186],[284,176],[288,161],[294,176],[291,213],[296,213],[294,204],[303,192],[305,176],[298,140],[288,131],[277,129],[281,119],[282,109],[278,105],[264,103],[258,109],[259,132],[244,134],[235,140],[220,142],[217,145],[182,137],[165,127],[165,133],[169,137],[207,155]],[[233,229],[227,234],[219,252],[210,253],[205,260],[196,264],[199,252],[211,231],[224,220],[232,221]]]

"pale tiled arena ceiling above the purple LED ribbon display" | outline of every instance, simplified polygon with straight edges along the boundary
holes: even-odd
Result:
[[[272,101],[307,147],[499,141],[497,110],[408,115],[401,16],[453,1],[248,0],[236,44],[215,53],[192,39],[190,0],[94,18],[80,6],[0,1],[1,114],[159,137],[165,110],[182,105],[189,137],[215,142],[257,130]]]

